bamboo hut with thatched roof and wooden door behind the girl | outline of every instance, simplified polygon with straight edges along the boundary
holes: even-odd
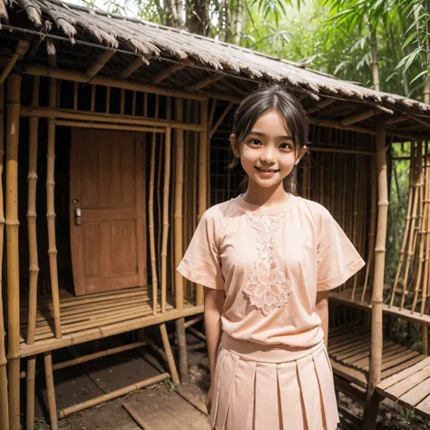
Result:
[[[179,381],[167,321],[176,321],[186,379],[184,334],[201,317],[203,295],[175,267],[203,212],[239,192],[240,171],[225,170],[235,105],[273,81],[295,93],[310,117],[311,157],[298,193],[327,206],[368,262],[334,295],[371,313],[371,334],[366,325],[348,326],[361,341],[354,347],[367,347],[364,364],[339,358],[351,341],[343,327],[333,328],[332,358],[337,388],[366,403],[366,430],[373,428],[386,366],[386,147],[429,139],[430,106],[60,0],[9,6],[0,0],[4,21],[8,12],[0,30],[0,428],[19,428],[20,377],[27,428],[34,428],[38,355],[53,428],[58,418],[133,389],[168,376]],[[151,339],[53,364],[54,350],[149,326],[160,327],[169,373],[57,411],[54,370]],[[396,376],[398,367],[390,368]]]

